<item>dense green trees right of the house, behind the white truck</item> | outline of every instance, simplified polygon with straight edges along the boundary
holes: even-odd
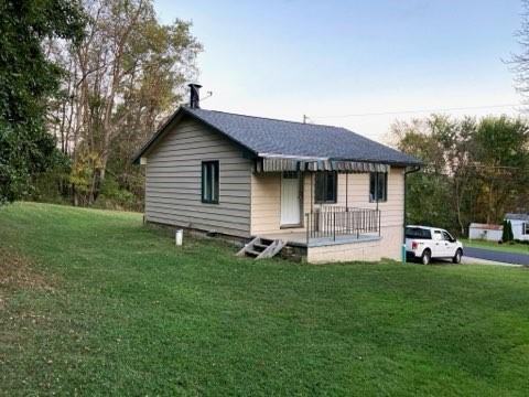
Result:
[[[425,163],[407,181],[408,219],[463,235],[471,222],[527,211],[528,131],[523,120],[506,116],[396,122],[397,147]]]

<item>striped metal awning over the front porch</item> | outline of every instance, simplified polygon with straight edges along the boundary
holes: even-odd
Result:
[[[259,155],[256,171],[343,171],[343,172],[389,172],[390,167],[382,163],[331,160],[324,158],[303,158],[288,155]]]

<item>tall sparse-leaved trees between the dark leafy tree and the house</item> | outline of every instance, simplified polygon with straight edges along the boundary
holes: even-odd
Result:
[[[151,0],[83,4],[90,19],[80,45],[51,45],[69,71],[53,120],[61,148],[74,163],[74,203],[89,205],[109,172],[120,185],[141,190],[141,175],[129,160],[182,101],[202,46],[190,22],[160,24]]]

